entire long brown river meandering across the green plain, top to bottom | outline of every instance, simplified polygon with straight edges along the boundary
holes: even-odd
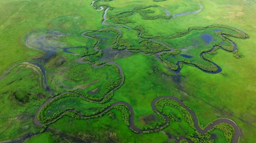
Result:
[[[92,1],[92,4],[91,4],[92,7],[94,7],[94,6],[93,6],[94,2],[95,2],[95,1]],[[102,7],[103,7],[103,6],[101,6],[101,9],[99,9],[99,10],[103,10]],[[95,8],[95,7],[94,7],[94,8]],[[104,20],[102,21],[102,24],[104,24],[104,25],[109,25],[109,26],[114,26],[114,27],[125,27],[125,28],[128,28],[128,29],[133,29],[133,28],[127,26],[127,25],[113,25],[113,24],[107,24],[105,21],[106,21],[106,13],[107,13],[107,10],[108,10],[108,9],[109,9],[109,8],[107,7],[107,8],[105,9],[105,11],[104,11],[104,15],[103,15],[103,19],[104,19]],[[96,10],[97,10],[97,9],[96,9]],[[115,28],[115,29],[119,31],[119,36],[121,36],[121,30],[118,29],[118,28]],[[101,30],[101,29],[100,29],[100,30]],[[99,30],[99,31],[100,31],[100,30]],[[137,29],[133,29],[133,30],[138,31]],[[95,32],[95,31],[87,31],[87,32],[84,32],[84,33],[82,34],[82,36],[85,36],[85,37],[88,37],[88,38],[92,38],[92,37],[90,37],[90,36],[85,35],[86,33],[89,33],[89,32]],[[141,31],[138,31],[138,32],[139,32],[139,34],[138,34],[138,37],[139,37],[139,38],[141,38],[141,39],[148,39],[148,38],[143,38],[143,37],[141,36],[141,34],[142,34]],[[165,44],[164,42],[159,42],[159,41],[156,41],[155,39],[149,39],[149,40],[151,40],[151,41],[153,41],[153,42],[157,42],[157,43],[159,43],[159,44],[162,44],[162,45],[164,45],[165,47],[168,47],[168,45]],[[229,40],[229,39],[228,39],[228,40]],[[230,40],[230,42],[231,42],[231,40]],[[236,50],[237,47],[236,47],[235,43],[234,43],[234,42],[232,42],[232,43],[234,44],[234,47],[235,47],[234,50]],[[94,50],[100,51],[100,50],[97,49],[97,45],[98,45],[98,44],[99,44],[99,41],[98,41],[97,44],[94,46]],[[159,61],[163,62],[163,61],[159,58],[159,54],[161,54],[161,53],[166,53],[166,52],[170,52],[170,51],[173,51],[173,50],[174,50],[174,49],[171,48],[171,47],[169,47],[169,48],[170,48],[169,51],[161,51],[161,52],[155,53],[156,58],[157,58]],[[209,53],[209,52],[211,52],[212,50],[214,50],[214,47],[213,47],[210,51],[204,52],[204,53],[202,53],[202,54]],[[141,52],[141,53],[143,53],[143,52]],[[143,53],[143,54],[146,54],[146,53]],[[202,54],[201,54],[200,56],[201,56],[202,59],[204,59],[204,58],[202,57]],[[147,54],[147,55],[149,55],[149,54]],[[90,55],[88,55],[88,56],[90,56]],[[45,107],[46,104],[48,104],[49,102],[51,102],[53,99],[57,98],[57,97],[60,96],[60,95],[63,95],[63,94],[66,94],[66,93],[73,93],[73,94],[79,95],[80,98],[84,98],[84,99],[89,100],[89,101],[92,101],[92,102],[94,102],[94,103],[100,103],[100,102],[102,102],[102,101],[106,98],[106,96],[107,96],[110,92],[115,91],[116,89],[118,89],[118,88],[123,84],[123,82],[124,82],[124,79],[123,79],[124,71],[122,70],[122,68],[121,68],[121,66],[120,66],[119,64],[115,63],[114,61],[108,61],[108,62],[106,62],[105,64],[102,64],[102,65],[100,65],[100,66],[97,66],[97,65],[94,65],[93,63],[91,63],[91,62],[89,62],[89,61],[83,61],[83,58],[88,57],[88,56],[80,57],[80,58],[78,58],[76,61],[77,61],[78,63],[90,63],[91,66],[94,67],[94,68],[103,67],[105,64],[113,64],[113,65],[117,66],[118,69],[119,69],[119,71],[120,71],[120,76],[121,76],[121,82],[120,82],[120,84],[119,84],[117,87],[113,88],[113,89],[112,89],[111,91],[109,91],[108,93],[106,93],[106,94],[103,96],[103,98],[101,99],[101,101],[94,101],[94,100],[92,100],[92,99],[89,99],[89,98],[87,98],[87,97],[85,97],[85,96],[83,96],[83,95],[80,95],[80,94],[74,93],[74,92],[63,92],[63,93],[60,93],[60,94],[57,95],[57,96],[54,96],[53,98],[49,98],[47,101],[45,101],[45,102],[39,107],[39,109],[38,109],[37,112],[36,112],[36,115],[35,115],[35,117],[34,117],[34,123],[35,123],[36,125],[39,125],[39,126],[41,126],[41,127],[44,125],[44,124],[40,123],[40,121],[39,121],[39,119],[38,119],[38,114],[39,114],[40,110],[41,110],[43,107]],[[204,59],[204,60],[205,60],[205,59]],[[180,61],[179,61],[179,62],[180,62]],[[213,62],[211,62],[211,63],[213,63]],[[44,80],[43,80],[43,83],[44,83],[45,85],[47,85],[46,71],[45,71],[45,69],[43,68],[43,66],[41,66],[41,65],[38,64],[38,63],[33,63],[33,62],[31,62],[31,64],[33,64],[33,65],[39,67],[39,69],[40,69],[40,71],[42,72],[42,75],[43,75],[43,79],[44,79]],[[217,66],[215,63],[213,63],[213,64],[214,64],[215,66]],[[220,72],[219,70],[221,70],[221,68],[220,68],[219,66],[217,66],[217,67],[218,67],[218,71],[217,71],[217,72]],[[197,68],[200,69],[199,67],[197,67]],[[169,68],[167,68],[167,69],[170,70]],[[202,69],[200,69],[200,70],[202,70]],[[204,70],[202,70],[202,71],[204,71]],[[207,72],[207,73],[215,73],[215,72],[209,72],[209,71],[205,71],[205,72]],[[240,137],[240,130],[239,130],[239,128],[237,127],[237,125],[234,123],[234,121],[232,121],[232,120],[230,120],[230,119],[227,119],[227,118],[220,118],[220,119],[218,119],[218,120],[213,121],[210,125],[208,125],[207,127],[205,127],[204,130],[203,130],[203,129],[201,129],[201,128],[199,127],[199,125],[198,125],[198,118],[196,117],[195,113],[194,113],[193,111],[191,111],[188,107],[186,107],[182,101],[180,101],[178,98],[176,98],[176,97],[174,97],[174,96],[161,96],[161,97],[158,97],[158,98],[156,98],[156,99],[154,99],[154,100],[152,101],[151,107],[152,107],[153,111],[158,112],[159,114],[161,114],[162,116],[164,116],[164,118],[166,119],[166,123],[165,123],[164,125],[162,125],[162,126],[160,126],[160,127],[158,127],[158,128],[154,128],[153,131],[159,130],[161,127],[164,127],[164,126],[167,125],[168,122],[169,122],[168,117],[167,117],[166,115],[162,114],[161,112],[159,112],[159,111],[156,109],[156,107],[155,107],[155,104],[156,104],[157,101],[159,101],[160,99],[166,99],[166,98],[167,98],[167,99],[173,99],[173,100],[177,101],[183,108],[185,108],[185,109],[192,115],[193,120],[194,120],[194,124],[195,124],[195,128],[196,128],[196,130],[198,130],[199,133],[201,133],[201,134],[207,133],[207,131],[213,129],[215,125],[218,125],[218,124],[220,124],[220,123],[227,123],[227,124],[232,125],[232,127],[234,127],[234,129],[235,129],[235,134],[234,134],[232,143],[237,143],[237,142],[238,142],[238,139],[239,139],[239,137]],[[135,131],[138,131],[138,133],[140,133],[140,134],[143,133],[143,131],[141,131],[140,128],[138,128],[138,127],[136,127],[136,126],[134,125],[134,111],[133,111],[133,108],[131,107],[131,105],[129,105],[129,104],[126,103],[126,102],[122,102],[122,101],[116,102],[116,103],[110,105],[110,107],[106,108],[103,112],[101,112],[101,113],[99,113],[99,114],[104,114],[104,113],[108,112],[110,109],[112,109],[112,107],[114,107],[114,106],[116,106],[116,105],[119,105],[119,104],[122,104],[122,105],[127,106],[128,109],[129,109],[129,111],[131,112],[131,116],[130,116],[130,120],[129,120],[129,123],[130,123],[129,127],[130,127],[131,129],[135,130]],[[60,118],[62,117],[62,115],[63,115],[64,113],[66,113],[66,112],[76,112],[76,111],[74,111],[74,110],[67,110],[67,111],[63,112],[58,118],[56,118],[56,119],[53,120],[53,121],[50,121],[49,123],[53,123],[54,121],[60,119]],[[82,114],[81,114],[80,112],[77,113],[77,114],[78,114],[80,117],[85,117],[85,116],[82,116]],[[97,114],[97,115],[99,115],[99,114]],[[95,117],[95,118],[96,118],[97,115],[93,115],[93,116],[91,116],[91,117]],[[149,129],[148,131],[150,131],[150,129]],[[181,136],[180,139],[186,139],[186,137]],[[186,140],[188,140],[188,139],[186,139]],[[188,141],[190,142],[190,140],[188,140]]]

